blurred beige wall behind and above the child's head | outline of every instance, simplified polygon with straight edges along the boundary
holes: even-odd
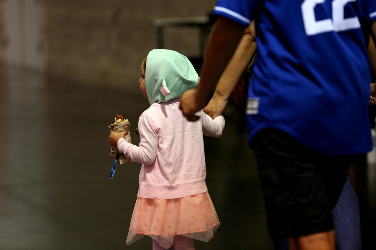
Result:
[[[141,61],[156,48],[151,21],[206,15],[215,2],[44,0],[45,69],[49,75],[88,84],[137,84]],[[186,56],[199,54],[197,29],[168,28],[165,41],[166,48]]]

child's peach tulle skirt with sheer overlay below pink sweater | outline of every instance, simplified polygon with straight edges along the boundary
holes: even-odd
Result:
[[[208,242],[220,226],[208,192],[178,199],[137,198],[127,245],[149,235],[169,248],[174,235]]]

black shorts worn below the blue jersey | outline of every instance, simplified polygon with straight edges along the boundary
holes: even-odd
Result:
[[[334,229],[351,156],[312,152],[292,136],[267,128],[252,139],[271,238],[299,237]]]

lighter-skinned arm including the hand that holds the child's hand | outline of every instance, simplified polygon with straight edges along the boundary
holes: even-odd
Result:
[[[257,45],[255,42],[254,26],[255,23],[252,22],[252,24],[250,24],[245,30],[237,49],[219,79],[213,97],[203,109],[206,114],[212,117],[212,119],[223,112],[232,90],[235,88],[241,75],[247,68],[253,54],[255,54]]]

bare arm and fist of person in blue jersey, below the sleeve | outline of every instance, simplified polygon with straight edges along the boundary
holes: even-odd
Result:
[[[185,91],[180,97],[180,109],[188,120],[199,119],[194,113],[207,103],[243,33],[244,26],[240,23],[226,17],[218,18],[209,37],[199,85],[196,89]]]

